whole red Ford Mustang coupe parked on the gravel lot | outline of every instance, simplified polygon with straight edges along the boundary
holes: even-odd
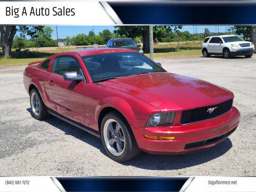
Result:
[[[36,119],[51,114],[101,138],[118,162],[141,150],[180,154],[206,149],[239,123],[232,92],[167,73],[132,50],[63,52],[30,63],[23,77]]]

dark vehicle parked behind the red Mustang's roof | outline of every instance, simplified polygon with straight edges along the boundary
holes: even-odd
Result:
[[[109,39],[106,47],[131,49],[144,54],[143,50],[140,49],[140,45],[137,45],[137,43],[135,43],[131,38]]]

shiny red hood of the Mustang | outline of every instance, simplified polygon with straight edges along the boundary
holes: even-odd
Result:
[[[159,110],[186,110],[234,98],[233,93],[223,87],[166,72],[119,77],[101,85],[134,95]]]

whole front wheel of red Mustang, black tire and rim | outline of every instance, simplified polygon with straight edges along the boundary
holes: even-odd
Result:
[[[114,111],[103,117],[100,131],[103,147],[114,161],[129,161],[140,154],[131,127],[121,114]]]

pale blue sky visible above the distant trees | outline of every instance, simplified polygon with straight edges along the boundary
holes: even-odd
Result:
[[[57,39],[56,26],[50,26],[53,29],[52,38]],[[226,28],[231,26],[219,26],[219,32],[225,32]],[[183,26],[181,31],[189,31],[193,34],[194,30],[196,33],[204,33],[204,29],[208,28],[211,32],[218,33],[218,26]],[[77,34],[88,34],[90,30],[94,29],[96,35],[104,29],[109,29],[111,32],[115,30],[114,26],[58,26],[58,38],[66,38],[67,36],[73,37]],[[19,35],[19,34],[18,34]],[[29,37],[28,37],[29,38]]]

